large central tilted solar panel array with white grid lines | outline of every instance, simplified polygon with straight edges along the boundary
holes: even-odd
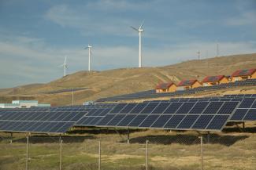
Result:
[[[95,126],[221,131],[239,102],[120,103]]]

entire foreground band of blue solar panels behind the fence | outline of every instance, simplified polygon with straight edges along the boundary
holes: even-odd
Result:
[[[212,98],[210,98],[212,99]],[[155,101],[90,106],[0,110],[0,131],[65,132],[73,125],[221,131],[227,121],[255,121],[255,98],[219,97],[217,101]],[[221,99],[231,99],[221,101]],[[83,111],[77,110],[83,108]],[[72,109],[72,110],[70,110]]]

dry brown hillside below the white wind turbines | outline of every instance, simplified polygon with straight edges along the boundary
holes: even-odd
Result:
[[[40,103],[67,105],[72,102],[71,89],[80,88],[75,92],[75,103],[81,104],[85,100],[154,89],[161,81],[178,82],[184,78],[202,80],[206,75],[229,75],[237,69],[245,68],[256,68],[256,53],[190,60],[165,67],[80,71],[46,84],[0,89],[0,102],[9,102],[11,99],[38,99]]]

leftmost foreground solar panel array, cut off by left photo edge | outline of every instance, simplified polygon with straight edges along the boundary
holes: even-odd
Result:
[[[0,131],[64,133],[87,111],[83,107],[32,107],[1,109]]]

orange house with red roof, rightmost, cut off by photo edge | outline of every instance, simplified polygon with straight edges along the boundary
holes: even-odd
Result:
[[[232,74],[232,82],[256,78],[256,69],[245,69],[235,71]]]

